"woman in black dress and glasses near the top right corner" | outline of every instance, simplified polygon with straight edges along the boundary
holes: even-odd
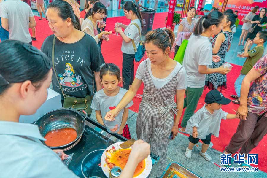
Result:
[[[250,47],[253,45],[253,39],[255,38],[256,34],[259,32],[259,31],[262,31],[262,27],[264,26],[267,26],[267,17],[266,17],[266,14],[267,14],[267,9],[266,8],[262,8],[260,10],[260,14],[259,15],[255,15],[252,19],[252,21],[250,23],[252,23],[252,28],[254,28],[253,32],[252,33],[248,33],[247,34],[247,38],[246,38],[246,44],[243,48],[242,51],[245,50],[246,46],[247,46],[247,42],[248,40],[252,40],[252,43],[250,45]],[[266,23],[264,25],[262,25],[263,23]],[[250,49],[249,47],[249,49]]]

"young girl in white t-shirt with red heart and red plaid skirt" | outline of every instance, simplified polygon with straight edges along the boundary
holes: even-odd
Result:
[[[119,67],[112,63],[106,63],[101,67],[99,76],[104,88],[96,92],[91,104],[91,108],[96,110],[98,123],[107,126],[108,132],[118,133],[127,139],[131,139],[127,119],[128,108],[134,104],[133,101],[130,101],[124,109],[117,114],[116,124],[113,125],[114,122],[104,119],[105,114],[116,108],[117,104],[119,104],[120,100],[127,92],[127,90],[118,86],[118,83],[121,81]]]

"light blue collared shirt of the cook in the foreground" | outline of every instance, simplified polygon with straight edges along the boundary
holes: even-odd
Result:
[[[0,121],[0,177],[78,178],[40,140],[37,125]]]

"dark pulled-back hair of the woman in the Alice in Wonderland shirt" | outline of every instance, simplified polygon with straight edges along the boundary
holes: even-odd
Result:
[[[71,19],[71,22],[77,30],[81,30],[80,20],[79,18],[74,14],[74,11],[71,7],[71,5],[63,0],[56,0],[52,1],[47,9],[53,8],[58,11],[58,16],[61,17],[63,20],[67,20],[67,18]]]

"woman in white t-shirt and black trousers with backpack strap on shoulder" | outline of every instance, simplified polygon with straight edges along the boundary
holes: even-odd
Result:
[[[123,52],[123,88],[129,90],[129,86],[132,85],[134,81],[135,51],[132,40],[134,40],[136,48],[139,46],[140,42],[139,30],[133,23],[136,23],[139,26],[141,33],[141,28],[143,27],[143,18],[141,16],[139,7],[136,6],[132,1],[125,2],[123,5],[123,11],[126,18],[131,19],[131,23],[127,26],[117,22],[114,30],[115,32],[119,33],[123,39],[121,46],[121,51]],[[125,29],[124,32],[121,28]]]

